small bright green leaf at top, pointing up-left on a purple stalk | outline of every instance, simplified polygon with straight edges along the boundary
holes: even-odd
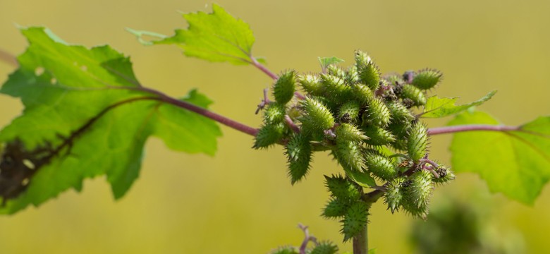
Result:
[[[189,28],[176,30],[172,37],[133,29],[128,29],[128,32],[145,45],[176,44],[183,49],[185,56],[237,65],[252,63],[255,38],[243,20],[234,18],[216,4],[212,5],[212,13],[185,13],[183,18],[188,21]],[[144,36],[158,40],[147,41]]]

